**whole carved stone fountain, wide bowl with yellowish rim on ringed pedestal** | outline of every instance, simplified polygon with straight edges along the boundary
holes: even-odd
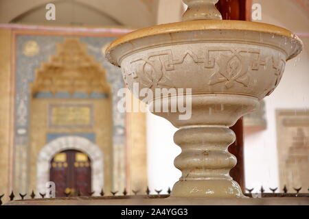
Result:
[[[134,31],[112,42],[106,58],[122,68],[131,91],[134,83],[139,90],[154,92],[192,89],[190,118],[179,119],[181,112],[153,112],[179,128],[174,142],[182,153],[174,164],[183,175],[171,195],[242,197],[238,183],[229,176],[236,165],[236,157],[227,151],[235,141],[229,127],[273,92],[286,61],[301,50],[301,40],[281,27],[198,20]],[[161,101],[171,107],[172,96],[154,98],[148,105]]]

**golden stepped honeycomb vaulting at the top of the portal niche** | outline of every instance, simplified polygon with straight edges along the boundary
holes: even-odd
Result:
[[[105,70],[87,55],[86,44],[67,38],[58,44],[58,53],[43,63],[32,84],[34,97],[95,98],[111,92]]]

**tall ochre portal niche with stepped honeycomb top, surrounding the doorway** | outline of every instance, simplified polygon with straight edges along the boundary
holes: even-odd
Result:
[[[63,181],[67,181],[64,179],[55,181],[56,190],[69,188],[79,192],[84,190],[84,193],[95,190],[97,194],[102,188],[112,190],[111,86],[106,81],[106,73],[100,63],[87,55],[86,44],[80,43],[78,38],[66,38],[58,44],[56,55],[52,55],[49,62],[41,64],[41,68],[36,70],[30,88],[31,170],[36,170],[36,174],[33,171],[31,174],[32,188],[38,188],[41,192],[44,181],[63,178],[56,175],[61,171],[55,171],[51,159],[46,157],[52,158],[61,151],[78,150],[89,157],[89,191],[73,188],[73,185],[62,185]],[[58,142],[57,145],[55,142]],[[91,154],[90,144],[96,153]],[[69,168],[69,165],[61,168]],[[74,168],[71,170],[75,171]],[[73,172],[68,171],[62,170],[67,172],[65,177],[73,175]],[[53,172],[53,175],[49,175],[49,172]],[[84,183],[89,183],[89,180]]]

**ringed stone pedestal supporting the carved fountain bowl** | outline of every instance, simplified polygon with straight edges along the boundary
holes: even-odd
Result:
[[[178,113],[154,112],[180,127],[174,142],[182,152],[174,165],[181,170],[182,177],[171,196],[243,196],[238,183],[229,176],[229,170],[236,166],[236,157],[227,150],[236,140],[229,127],[258,105],[258,99],[249,96],[196,94],[192,96],[190,119],[179,120]]]

